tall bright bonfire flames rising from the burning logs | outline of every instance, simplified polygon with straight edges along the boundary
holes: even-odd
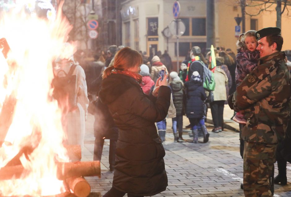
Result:
[[[68,161],[62,145],[62,111],[50,99],[52,61],[63,54],[63,43],[72,29],[61,7],[54,21],[18,9],[2,13],[0,18],[0,38],[6,38],[11,48],[7,59],[0,53],[0,112],[5,99],[10,95],[16,99],[5,143],[0,144],[0,169],[24,147],[33,148],[32,153],[20,157],[25,169],[20,179],[0,180],[1,196],[45,196],[65,191],[63,181],[56,178],[56,161]]]

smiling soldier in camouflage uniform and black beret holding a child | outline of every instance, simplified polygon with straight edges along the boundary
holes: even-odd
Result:
[[[243,189],[246,197],[273,196],[275,151],[282,141],[290,116],[290,73],[280,28],[256,32],[258,66],[241,82],[228,99],[235,111],[245,110],[242,129],[244,147]]]

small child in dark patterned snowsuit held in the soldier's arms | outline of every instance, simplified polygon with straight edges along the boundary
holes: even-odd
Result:
[[[238,86],[244,78],[257,66],[260,53],[256,50],[258,41],[255,37],[256,31],[249,30],[240,35],[237,41],[237,67],[235,70],[235,82]],[[244,111],[238,111],[233,120],[246,124]]]

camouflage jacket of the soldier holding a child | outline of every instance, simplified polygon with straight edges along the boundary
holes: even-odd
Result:
[[[284,139],[290,117],[291,80],[285,52],[259,59],[258,66],[237,86],[232,97],[235,111],[245,110],[241,138],[276,144]]]

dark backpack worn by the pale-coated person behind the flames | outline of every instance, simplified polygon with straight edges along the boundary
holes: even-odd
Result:
[[[73,111],[77,106],[77,76],[72,75],[76,65],[72,65],[69,72],[60,70],[54,75],[52,86],[53,98],[58,101],[59,107]],[[65,73],[64,77],[58,77],[59,73]]]

